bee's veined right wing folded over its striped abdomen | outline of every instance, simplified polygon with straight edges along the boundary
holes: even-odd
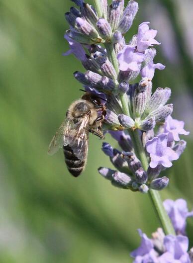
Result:
[[[74,135],[72,132],[72,137],[68,143],[79,160],[85,160],[87,158],[89,145],[89,120],[90,116],[86,115],[80,122],[79,128],[76,128]]]

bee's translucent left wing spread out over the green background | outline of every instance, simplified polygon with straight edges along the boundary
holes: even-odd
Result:
[[[66,140],[68,144],[68,134],[69,134],[69,129],[71,121],[70,119],[66,119],[58,128],[56,131],[56,134],[52,138],[50,145],[48,147],[48,154],[53,155],[55,154],[60,148],[63,147],[64,144],[64,139]]]

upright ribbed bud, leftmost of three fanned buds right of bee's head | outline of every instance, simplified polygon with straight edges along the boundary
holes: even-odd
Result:
[[[143,87],[143,88],[146,88]],[[133,113],[135,115],[135,118],[140,117],[144,110],[147,103],[147,92],[139,86],[135,90],[134,99],[133,99]]]

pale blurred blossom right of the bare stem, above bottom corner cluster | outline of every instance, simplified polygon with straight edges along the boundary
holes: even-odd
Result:
[[[166,199],[163,204],[176,233],[185,235],[187,225],[186,219],[187,217],[193,216],[193,211],[189,212],[188,210],[187,202],[184,199],[177,199],[176,201]]]

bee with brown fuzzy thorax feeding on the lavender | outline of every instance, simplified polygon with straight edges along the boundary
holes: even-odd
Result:
[[[63,147],[68,171],[75,177],[86,167],[89,132],[104,138],[101,126],[106,114],[105,109],[104,104],[100,103],[100,97],[86,92],[70,105],[65,121],[50,142],[48,154],[53,155]]]

